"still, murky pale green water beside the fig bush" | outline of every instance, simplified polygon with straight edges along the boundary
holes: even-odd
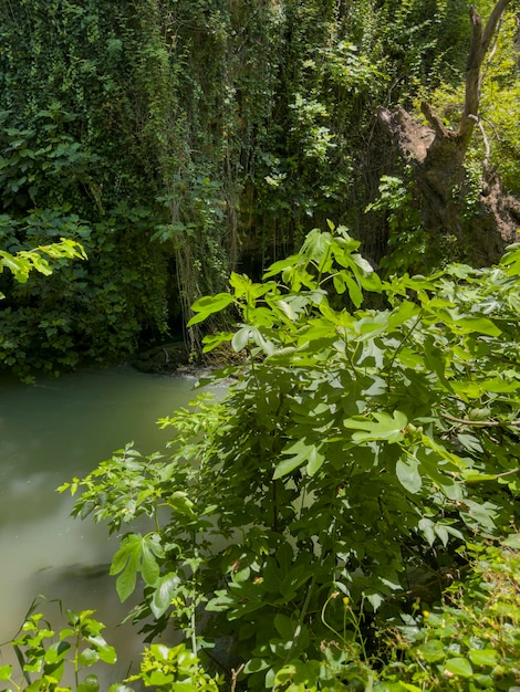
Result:
[[[160,449],[170,433],[155,421],[186,406],[194,385],[126,366],[35,386],[0,379],[0,643],[44,594],[73,610],[95,609],[111,628],[107,639],[124,649],[121,669],[138,658],[133,632],[112,631],[126,612],[114,579],[84,576],[84,567],[111,562],[115,539],[104,526],[71,518],[71,499],[54,491],[132,440],[143,453]]]

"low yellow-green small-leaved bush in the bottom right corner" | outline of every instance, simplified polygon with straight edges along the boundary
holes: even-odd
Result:
[[[403,660],[384,671],[375,690],[516,690],[520,683],[519,535],[503,545],[470,545],[471,572],[445,593],[445,604],[424,610],[417,626],[393,640]],[[406,682],[408,681],[408,682]],[[409,684],[414,683],[414,684]]]

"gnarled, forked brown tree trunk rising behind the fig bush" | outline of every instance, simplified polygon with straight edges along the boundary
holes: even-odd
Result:
[[[471,44],[466,66],[465,104],[459,129],[449,130],[429,104],[422,111],[429,126],[419,125],[404,109],[382,108],[379,122],[397,150],[412,164],[418,191],[422,222],[433,240],[455,237],[464,254],[477,266],[495,263],[520,226],[520,200],[505,195],[500,178],[489,164],[482,164],[482,189],[467,219],[468,179],[464,166],[475,127],[480,127],[481,66],[500,17],[510,0],[496,3],[486,27],[470,10]],[[483,129],[481,128],[482,135]],[[488,144],[485,137],[486,147]],[[466,211],[466,214],[465,214]]]

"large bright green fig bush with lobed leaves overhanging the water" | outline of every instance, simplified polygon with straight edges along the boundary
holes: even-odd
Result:
[[[212,379],[237,381],[162,421],[170,451],[127,447],[62,487],[81,489],[77,515],[128,528],[111,572],[123,600],[141,575],[149,638],[173,626],[218,660],[227,643],[249,689],[285,689],[288,667],[367,683],[378,628],[440,598],[465,542],[518,521],[520,249],[382,282],[357,247],[312,231],[263,283],[232,274],[198,301],[194,323],[238,311],[206,339],[247,354]]]

